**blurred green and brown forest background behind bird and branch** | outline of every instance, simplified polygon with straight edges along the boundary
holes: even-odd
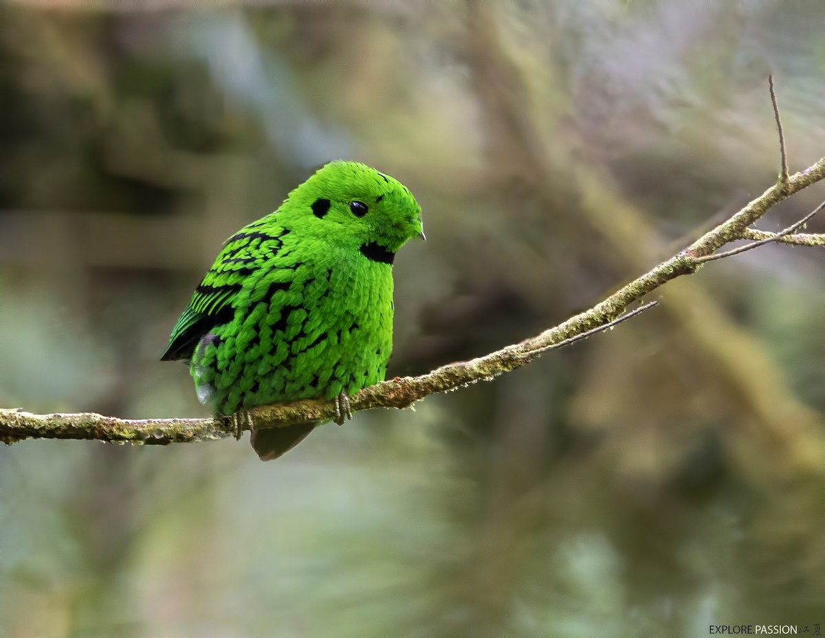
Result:
[[[0,405],[199,416],[158,357],[223,240],[332,158],[398,177],[390,374],[540,332],[825,155],[821,2],[0,5]],[[812,210],[812,187],[762,220]],[[823,219],[809,230],[825,231]],[[825,258],[281,460],[0,449],[0,634],[706,636],[825,623]]]

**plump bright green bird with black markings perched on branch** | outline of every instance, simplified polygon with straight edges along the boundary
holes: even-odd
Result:
[[[201,403],[232,415],[256,405],[336,399],[384,380],[393,346],[393,260],[424,238],[407,187],[362,163],[337,161],[274,213],[224,243],[161,359],[184,359]],[[264,461],[318,423],[252,432]]]

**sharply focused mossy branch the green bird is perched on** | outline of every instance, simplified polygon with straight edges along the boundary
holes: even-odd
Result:
[[[775,94],[771,82],[771,97]],[[646,310],[644,305],[626,311],[645,295],[657,290],[667,281],[682,275],[691,275],[714,258],[726,258],[745,249],[764,243],[784,242],[799,246],[821,247],[821,234],[793,234],[804,226],[823,206],[792,224],[781,233],[766,233],[750,228],[780,201],[825,178],[825,158],[802,172],[788,175],[785,140],[781,131],[778,110],[776,122],[780,131],[781,172],[776,183],[761,196],[747,203],[724,223],[702,235],[688,248],[660,263],[650,272],[620,288],[599,304],[567,319],[562,324],[544,330],[533,338],[514,343],[484,357],[466,362],[450,363],[422,376],[396,377],[372,385],[351,397],[352,412],[373,408],[407,408],[416,401],[437,392],[446,392],[481,380],[493,380],[505,372],[524,366],[547,350],[573,343],[589,334],[619,323]],[[728,253],[714,253],[728,243],[740,239],[755,240],[746,247]],[[625,314],[626,313],[626,314]],[[290,404],[266,405],[250,410],[255,428],[276,428],[285,425],[331,419],[334,402],[326,399],[307,399]],[[242,419],[243,420],[243,419]],[[0,409],[0,441],[13,443],[28,438],[92,439],[105,442],[167,444],[196,442],[234,436],[236,426],[229,418],[158,418],[131,420],[106,417],[101,414],[30,414],[21,409]]]

